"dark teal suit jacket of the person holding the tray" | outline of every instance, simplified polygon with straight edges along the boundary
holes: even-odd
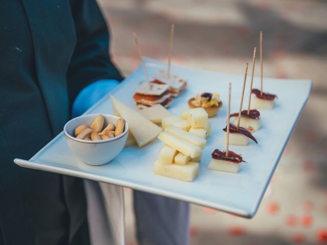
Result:
[[[0,8],[0,244],[88,244],[82,180],[21,168],[58,134],[79,91],[121,80],[95,0]]]

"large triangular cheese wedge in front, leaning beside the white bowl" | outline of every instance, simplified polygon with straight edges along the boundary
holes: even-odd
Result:
[[[132,110],[112,95],[110,95],[110,99],[115,111],[127,121],[129,130],[139,147],[142,147],[143,145],[146,145],[154,140],[161,132],[160,127],[141,114]]]

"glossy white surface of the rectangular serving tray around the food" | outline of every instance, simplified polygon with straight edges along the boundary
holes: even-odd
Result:
[[[158,69],[167,67],[166,63],[152,59],[146,58],[145,61],[149,76],[156,74]],[[126,186],[244,217],[252,217],[258,210],[279,158],[306,104],[312,82],[265,78],[265,91],[277,94],[278,100],[273,110],[261,110],[262,128],[254,133],[259,143],[251,142],[248,146],[229,146],[231,151],[242,154],[247,163],[242,165],[238,174],[209,170],[207,165],[214,149],[225,149],[222,129],[226,125],[229,82],[232,84],[231,112],[239,110],[243,83],[242,69],[240,67],[240,75],[231,75],[171,67],[172,74],[188,81],[188,88],[174,99],[169,108],[173,114],[181,115],[181,112],[188,108],[188,100],[199,92],[217,92],[223,101],[223,107],[218,116],[209,118],[212,124],[212,134],[207,139],[203,150],[203,157],[199,163],[199,176],[193,182],[183,182],[153,174],[153,163],[158,157],[159,149],[164,145],[158,139],[143,148],[132,146],[123,149],[110,164],[90,166],[72,153],[61,133],[30,160],[15,159],[15,163],[24,167]],[[145,75],[141,66],[117,86],[112,94],[136,109],[132,98],[133,90],[142,81],[145,81]],[[258,87],[260,87],[260,78],[255,77],[253,88]],[[249,79],[245,91],[244,109],[248,100]],[[105,96],[86,113],[112,113],[109,97]]]

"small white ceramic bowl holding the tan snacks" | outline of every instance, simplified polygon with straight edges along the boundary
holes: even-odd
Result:
[[[119,116],[106,115],[104,116],[104,125],[109,123],[116,125]],[[81,124],[91,125],[92,121],[99,114],[88,114],[75,117],[68,121],[64,128],[65,135],[69,148],[83,162],[89,165],[103,165],[114,159],[124,148],[128,136],[128,124],[125,124],[125,131],[114,138],[105,140],[83,140],[74,137],[75,128]]]

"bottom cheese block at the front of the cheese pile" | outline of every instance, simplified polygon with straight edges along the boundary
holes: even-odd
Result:
[[[176,180],[193,181],[199,174],[199,164],[188,162],[186,165],[178,164],[160,164],[159,161],[154,163],[154,174],[161,175]]]

